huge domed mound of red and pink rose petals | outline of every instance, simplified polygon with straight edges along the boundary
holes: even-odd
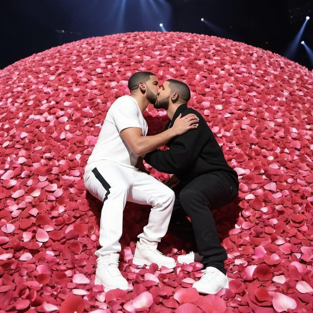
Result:
[[[239,175],[238,202],[214,212],[230,281],[217,295],[191,288],[199,263],[132,265],[149,212],[134,204],[120,259],[132,291],[94,286],[101,203],[82,175],[136,70],[185,80],[189,105]],[[312,72],[277,54],[189,33],[89,38],[1,70],[0,312],[311,312],[312,83]],[[163,111],[145,115],[150,134],[162,130]],[[187,243],[169,233],[159,247],[176,258]]]

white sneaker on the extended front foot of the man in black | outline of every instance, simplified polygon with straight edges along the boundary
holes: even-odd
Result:
[[[203,275],[200,280],[193,283],[199,293],[215,295],[222,288],[228,287],[228,277],[215,267],[208,266],[202,270]]]

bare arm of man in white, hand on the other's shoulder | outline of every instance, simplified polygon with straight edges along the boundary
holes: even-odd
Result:
[[[182,118],[177,118],[172,128],[155,136],[142,136],[142,129],[137,127],[122,130],[121,136],[131,151],[140,156],[165,145],[172,138],[188,130],[197,128],[196,122],[198,122],[198,117],[194,114],[188,114]]]

